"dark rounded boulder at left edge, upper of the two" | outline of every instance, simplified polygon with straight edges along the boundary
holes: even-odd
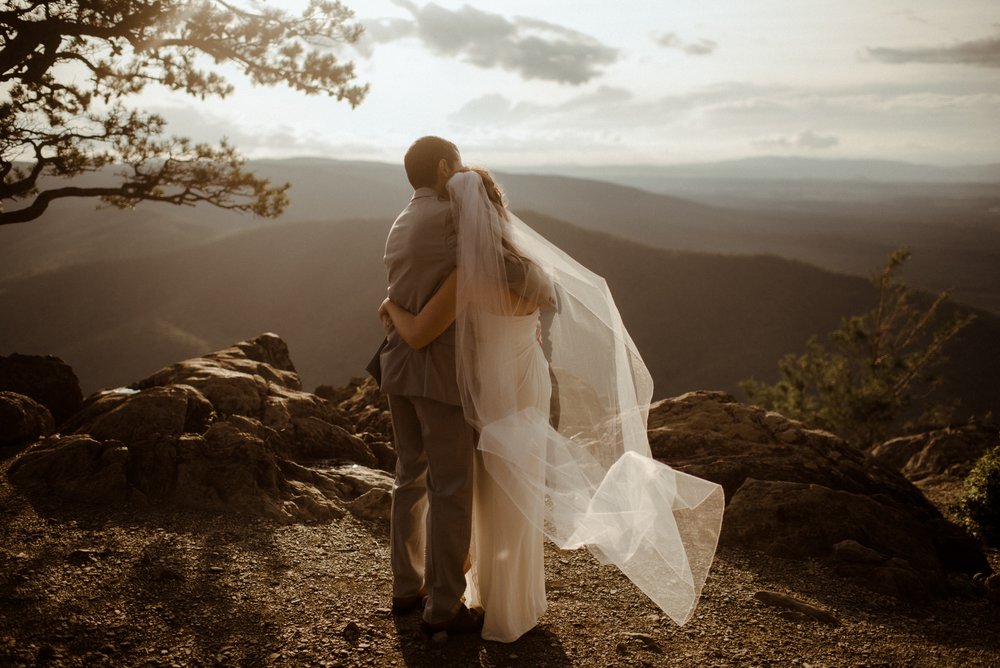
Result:
[[[73,369],[51,355],[0,356],[0,390],[31,397],[49,410],[57,426],[83,402]]]

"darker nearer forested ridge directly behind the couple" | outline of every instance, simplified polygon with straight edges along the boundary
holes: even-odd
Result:
[[[605,276],[658,397],[736,390],[867,308],[863,279],[774,256],[667,251],[542,214],[525,220]],[[0,284],[0,350],[56,354],[85,391],[263,331],[288,342],[307,387],[358,375],[381,339],[375,308],[386,219],[268,224],[142,257],[105,259]],[[952,350],[949,392],[1000,408],[1000,319],[983,314]]]

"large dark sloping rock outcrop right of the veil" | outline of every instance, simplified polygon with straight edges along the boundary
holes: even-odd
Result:
[[[827,560],[906,598],[948,591],[948,573],[989,573],[975,542],[897,471],[833,434],[721,392],[655,404],[653,454],[721,484],[723,544]]]

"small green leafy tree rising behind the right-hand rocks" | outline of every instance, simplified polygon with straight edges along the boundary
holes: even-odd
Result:
[[[804,353],[779,360],[777,383],[740,383],[750,401],[859,447],[885,440],[940,382],[935,369],[947,359],[945,345],[975,319],[956,312],[939,322],[948,293],[928,301],[903,284],[898,275],[909,257],[909,249],[900,248],[872,273],[875,308],[844,318],[825,344],[812,337]],[[925,408],[927,416],[946,410]]]

